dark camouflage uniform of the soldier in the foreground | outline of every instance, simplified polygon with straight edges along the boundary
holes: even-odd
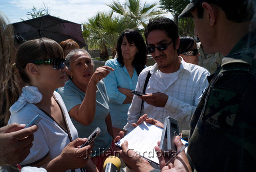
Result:
[[[197,171],[256,171],[255,51],[256,30],[208,78],[190,122],[187,155]]]

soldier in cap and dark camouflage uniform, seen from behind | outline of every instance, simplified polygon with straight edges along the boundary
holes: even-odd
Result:
[[[206,53],[226,55],[191,118],[187,155],[197,171],[256,171],[256,30],[249,1],[191,0],[179,16],[193,15]]]

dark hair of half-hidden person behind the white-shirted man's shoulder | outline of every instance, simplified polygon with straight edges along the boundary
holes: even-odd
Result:
[[[178,49],[178,54],[185,53],[187,51],[193,50],[196,45],[196,40],[190,36],[184,36],[180,38],[180,47]]]

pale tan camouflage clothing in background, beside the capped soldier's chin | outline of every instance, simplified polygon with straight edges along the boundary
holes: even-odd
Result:
[[[214,54],[205,54],[201,42],[197,43],[197,47],[198,52],[200,53],[200,56],[198,56],[198,65],[207,69],[210,74],[214,74],[218,66],[221,65],[221,61],[224,55],[219,52],[216,52]]]

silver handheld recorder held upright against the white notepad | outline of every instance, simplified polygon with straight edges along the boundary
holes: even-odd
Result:
[[[166,117],[159,145],[160,149],[163,151],[176,152],[177,147],[174,143],[174,140],[175,136],[178,135],[180,135],[178,120],[172,117]]]

